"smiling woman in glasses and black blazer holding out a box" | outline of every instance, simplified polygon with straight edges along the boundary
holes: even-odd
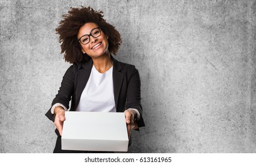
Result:
[[[144,127],[140,75],[134,65],[116,61],[121,37],[103,19],[103,12],[92,8],[71,8],[56,28],[61,53],[72,63],[46,116],[54,121],[57,141],[54,153],[89,152],[61,150],[65,111],[124,112],[127,131]],[[131,138],[130,138],[131,140]]]

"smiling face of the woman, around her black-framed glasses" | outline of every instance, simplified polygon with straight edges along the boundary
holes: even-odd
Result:
[[[101,35],[99,37],[92,37],[91,32],[93,29],[98,28],[99,26],[95,23],[86,23],[82,27],[80,27],[77,39],[81,38],[83,35],[89,35],[89,42],[87,44],[82,44],[80,41],[80,45],[82,47],[82,52],[85,52],[92,58],[102,57],[102,55],[108,54],[108,38],[101,30]]]

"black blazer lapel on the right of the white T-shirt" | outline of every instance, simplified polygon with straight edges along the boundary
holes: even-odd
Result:
[[[115,108],[118,111],[118,98],[122,87],[122,82],[124,80],[124,74],[121,72],[122,66],[116,61],[112,56],[113,60],[113,85],[114,85],[114,98],[115,98]]]

